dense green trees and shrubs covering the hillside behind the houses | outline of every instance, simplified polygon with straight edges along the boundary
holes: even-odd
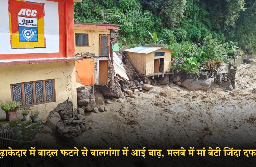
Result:
[[[123,24],[119,43],[127,47],[147,46],[156,33],[173,58],[196,64],[191,69],[210,58],[226,62],[234,46],[255,53],[255,0],[83,0],[74,21]]]

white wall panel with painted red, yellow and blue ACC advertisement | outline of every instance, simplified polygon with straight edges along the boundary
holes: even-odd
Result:
[[[58,2],[0,0],[0,54],[58,53]]]

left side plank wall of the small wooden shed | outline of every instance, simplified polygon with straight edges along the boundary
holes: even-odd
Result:
[[[138,68],[138,70],[141,73],[146,74],[146,54],[132,52],[127,52],[127,54],[130,56],[133,64]]]

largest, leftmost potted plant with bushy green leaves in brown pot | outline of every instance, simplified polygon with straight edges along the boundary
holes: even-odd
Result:
[[[1,109],[5,111],[7,121],[17,120],[17,109],[20,107],[19,102],[10,101],[1,104]]]

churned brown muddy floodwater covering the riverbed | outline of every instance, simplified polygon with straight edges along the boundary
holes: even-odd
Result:
[[[86,132],[76,145],[87,149],[162,149],[164,157],[73,158],[67,166],[255,166],[255,156],[171,157],[166,149],[230,147],[256,149],[256,65],[242,64],[236,89],[188,91],[181,87],[158,94],[141,93],[123,104],[108,104],[110,112],[88,113]],[[120,152],[122,154],[122,152]],[[89,152],[88,152],[89,154]]]

